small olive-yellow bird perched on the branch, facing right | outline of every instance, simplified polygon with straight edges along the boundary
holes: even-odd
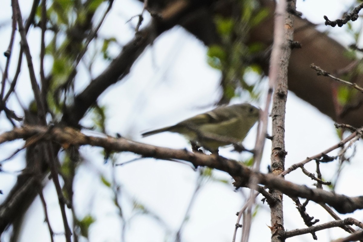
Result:
[[[217,107],[173,126],[145,132],[142,136],[175,132],[213,153],[221,146],[241,142],[259,116],[260,109],[249,103],[234,104]]]

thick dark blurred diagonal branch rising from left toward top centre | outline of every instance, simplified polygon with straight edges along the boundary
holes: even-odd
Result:
[[[183,16],[190,11],[196,11],[200,5],[201,3],[198,2],[177,0],[163,9],[160,17],[152,20],[148,26],[137,32],[110,65],[75,97],[74,104],[65,111],[62,120],[67,124],[77,126],[88,108],[95,104],[99,95],[129,74],[136,59],[156,37],[173,26],[181,24]]]

